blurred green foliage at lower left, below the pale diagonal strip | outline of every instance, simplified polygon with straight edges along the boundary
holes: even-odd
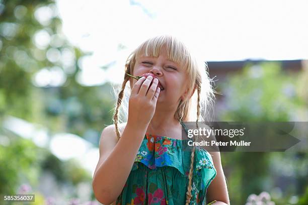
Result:
[[[31,140],[9,133],[7,136],[10,137],[8,144],[0,144],[0,194],[17,194],[21,184],[37,187],[44,171],[52,173],[60,186],[75,187],[92,180],[91,174],[79,162],[73,159],[61,161]]]

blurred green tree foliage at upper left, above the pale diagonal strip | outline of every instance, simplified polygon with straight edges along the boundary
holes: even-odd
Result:
[[[114,104],[109,83],[86,87],[76,81],[78,61],[90,53],[82,52],[64,38],[58,16],[46,25],[37,21],[34,13],[42,7],[55,10],[53,1],[4,1],[2,5],[5,8],[0,19],[1,116],[39,123],[51,132],[74,133],[98,145],[100,132],[112,123]],[[21,10],[22,17],[17,14]],[[40,31],[47,32],[51,39],[59,38],[61,43],[54,40],[51,45],[38,48],[35,35]],[[61,54],[69,50],[74,56],[73,64],[67,67],[62,60],[50,61],[46,57],[50,49]],[[65,75],[63,86],[35,86],[36,74],[54,66]]]

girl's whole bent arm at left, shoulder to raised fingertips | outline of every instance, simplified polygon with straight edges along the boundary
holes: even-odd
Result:
[[[108,126],[102,132],[100,159],[92,182],[95,197],[101,203],[110,204],[120,195],[153,118],[160,88],[158,79],[153,82],[152,79],[152,76],[141,77],[134,83],[128,102],[127,124],[119,141],[115,126]]]

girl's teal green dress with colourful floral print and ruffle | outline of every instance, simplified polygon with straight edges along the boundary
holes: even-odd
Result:
[[[184,205],[191,155],[187,141],[146,133],[116,204]],[[189,204],[206,204],[206,190],[215,176],[211,155],[196,148]]]

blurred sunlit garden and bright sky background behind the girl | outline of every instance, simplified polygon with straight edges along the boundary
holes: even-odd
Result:
[[[307,8],[307,1],[0,0],[0,195],[99,204],[92,176],[100,134],[112,124],[111,84],[122,83],[130,52],[160,34],[208,62],[221,93],[215,120],[307,121]],[[308,204],[305,146],[221,160],[232,204],[254,204],[259,194]]]

